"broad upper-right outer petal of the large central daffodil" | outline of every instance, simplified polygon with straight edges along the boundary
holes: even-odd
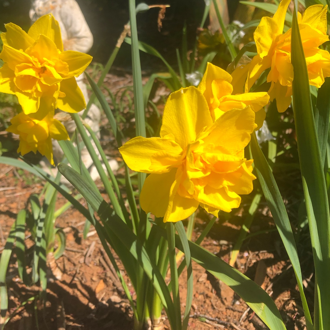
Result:
[[[227,111],[210,128],[210,134],[203,139],[205,145],[213,144],[229,152],[245,148],[254,130],[254,118],[250,107]]]

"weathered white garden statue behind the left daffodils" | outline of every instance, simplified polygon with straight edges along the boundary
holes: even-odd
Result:
[[[83,53],[87,53],[93,45],[93,35],[87,25],[85,17],[75,0],[34,0],[32,1],[30,9],[30,18],[32,21],[37,20],[39,17],[52,14],[58,21],[61,28],[61,35],[63,41],[64,50],[76,50]],[[87,93],[86,84],[83,82],[84,74],[82,73],[78,78],[76,78],[78,86],[82,90],[85,97],[86,103],[88,103],[89,97]],[[79,115],[82,116],[82,112]],[[88,115],[84,119],[85,122],[91,127],[91,129],[96,133],[96,136],[100,138],[100,109],[92,104]],[[66,127],[69,135],[72,135],[76,129],[75,122],[69,120],[63,123]],[[99,152],[93,143],[94,149],[98,154]],[[53,140],[53,157],[54,161],[59,162],[63,157],[63,152],[58,145],[56,140]],[[93,165],[93,161],[86,148],[82,149],[82,161],[90,172],[93,180],[99,178],[98,172]],[[109,164],[113,171],[118,169],[118,163],[116,160],[109,160]]]

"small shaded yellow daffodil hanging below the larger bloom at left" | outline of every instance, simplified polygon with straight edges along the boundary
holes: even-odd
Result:
[[[69,140],[69,136],[65,127],[54,119],[53,115],[54,113],[50,112],[43,120],[37,120],[21,112],[11,119],[12,125],[7,131],[19,135],[17,152],[24,156],[30,151],[36,153],[38,150],[52,165],[55,165],[51,139]]]

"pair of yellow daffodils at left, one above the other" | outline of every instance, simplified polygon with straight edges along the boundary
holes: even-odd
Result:
[[[53,118],[54,110],[77,113],[86,107],[75,77],[92,57],[63,51],[60,27],[52,15],[40,17],[28,33],[13,23],[5,27],[0,92],[15,94],[23,110],[7,130],[19,135],[17,151],[22,155],[38,150],[54,165],[51,138],[69,139],[65,127]]]

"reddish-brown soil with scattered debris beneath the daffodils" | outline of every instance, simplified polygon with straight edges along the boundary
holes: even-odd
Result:
[[[130,76],[108,75],[107,79],[106,83],[113,91],[118,90],[119,86],[131,84]],[[161,108],[162,106],[160,106],[160,111]],[[133,115],[127,107],[123,108],[121,115],[124,117],[121,128],[125,131],[125,136],[133,136],[134,122],[131,120]],[[151,121],[154,120],[153,116],[152,112],[147,115]],[[102,121],[102,125],[101,142],[105,146],[106,153],[119,157],[106,119]],[[120,171],[118,175],[121,175]],[[100,181],[96,183],[103,193],[102,183]],[[43,185],[43,181],[27,172],[0,164],[0,252],[3,250],[17,213],[25,208],[32,193],[41,192]],[[65,202],[66,200],[59,195],[56,209]],[[230,251],[237,240],[246,215],[244,210],[248,209],[246,206],[250,202],[251,196],[247,196],[242,202],[242,208],[236,213],[226,219],[218,219],[202,246],[229,262]],[[297,201],[292,203],[297,203]],[[198,214],[193,240],[205,227],[207,220],[208,216],[205,213]],[[8,315],[14,313],[17,307],[19,308],[5,329],[63,330],[63,318],[65,318],[67,330],[133,329],[128,300],[122,295],[120,287],[116,287],[112,281],[107,266],[104,266],[103,248],[94,228],[91,226],[87,239],[82,238],[84,222],[85,218],[73,208],[56,220],[56,226],[63,228],[66,233],[67,246],[63,256],[56,261],[63,273],[62,279],[56,280],[49,275],[45,306],[31,301],[24,307],[19,307],[28,298],[36,296],[40,288],[37,285],[32,287],[23,285],[17,274],[16,256],[13,253],[8,269]],[[241,248],[235,267],[269,293],[280,310],[288,330],[302,330],[305,328],[305,323],[294,273],[281,239],[274,228],[275,225],[266,203],[262,202],[250,231],[251,233],[270,229],[273,231],[247,239]],[[33,245],[28,232],[26,232],[25,244],[28,248]],[[87,251],[93,246],[92,253],[86,258]],[[117,262],[124,274],[120,260],[117,259]],[[304,263],[304,275],[307,279],[311,279],[314,271],[311,267],[311,256],[305,258]],[[193,264],[193,272],[192,317],[189,320],[188,329],[267,329],[232,289],[216,280],[196,263]],[[132,287],[127,277],[126,280]],[[180,277],[179,283],[183,311],[186,293],[185,273]],[[312,284],[307,280],[306,294],[310,306],[312,306],[314,296]],[[62,319],[61,313],[57,313],[61,310],[59,308],[61,306],[63,307]],[[163,316],[165,326],[168,328],[166,315],[163,314]]]

